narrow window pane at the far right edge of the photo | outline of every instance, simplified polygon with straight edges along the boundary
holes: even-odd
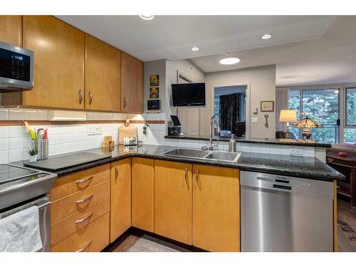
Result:
[[[344,142],[356,144],[356,88],[346,88]]]

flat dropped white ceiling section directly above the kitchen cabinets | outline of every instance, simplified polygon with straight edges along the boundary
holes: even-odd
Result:
[[[179,60],[323,36],[335,16],[57,16],[140,58]],[[270,40],[262,40],[273,33]],[[198,46],[199,51],[192,51]]]

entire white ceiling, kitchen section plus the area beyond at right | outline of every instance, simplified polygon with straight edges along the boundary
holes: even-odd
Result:
[[[142,61],[190,58],[205,73],[276,64],[277,86],[356,82],[356,16],[58,18]],[[219,64],[224,52],[240,63]]]

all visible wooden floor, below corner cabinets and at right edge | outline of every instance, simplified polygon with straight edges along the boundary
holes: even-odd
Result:
[[[337,248],[340,252],[356,252],[356,206],[351,206],[347,199],[337,199]],[[134,230],[124,234],[106,251],[186,252],[194,250]]]

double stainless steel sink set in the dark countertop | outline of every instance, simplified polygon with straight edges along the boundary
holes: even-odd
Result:
[[[224,162],[237,162],[241,153],[207,151],[207,150],[190,150],[187,148],[175,148],[163,153],[164,155],[176,157],[193,157],[196,159],[211,159]]]

